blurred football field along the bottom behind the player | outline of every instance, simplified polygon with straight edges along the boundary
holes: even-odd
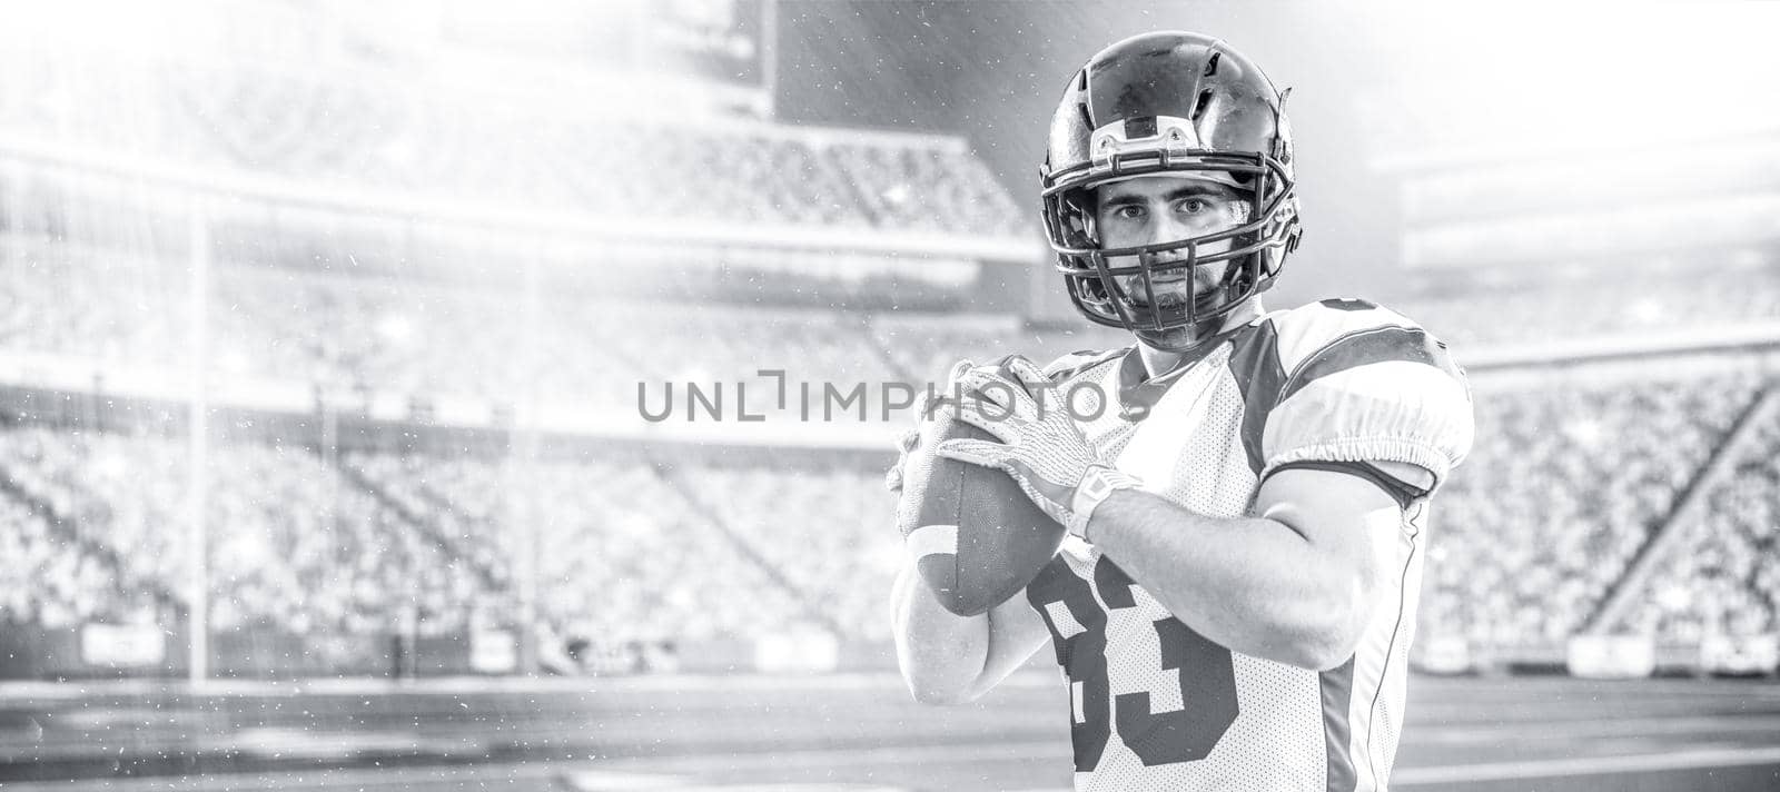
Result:
[[[0,689],[0,788],[1063,790],[1061,685],[890,675]],[[1780,788],[1771,680],[1417,678],[1397,790]]]

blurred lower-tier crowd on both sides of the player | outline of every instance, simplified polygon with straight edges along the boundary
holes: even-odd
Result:
[[[1695,486],[1764,381],[1559,381],[1476,393],[1477,445],[1436,500],[1424,634],[1559,644]],[[1645,582],[1636,632],[1691,642],[1780,630],[1780,418],[1753,424]],[[876,461],[208,449],[217,630],[420,634],[538,618],[580,641],[740,637],[815,625],[883,639],[897,566]],[[885,463],[888,461],[883,459]],[[189,449],[158,434],[0,432],[12,623],[153,623],[190,596]]]

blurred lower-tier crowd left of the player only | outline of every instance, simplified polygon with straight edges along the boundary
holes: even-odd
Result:
[[[352,452],[329,468],[281,445],[206,454],[217,632],[511,626],[527,568],[539,618],[582,642],[883,632],[897,546],[876,472],[694,466],[676,486],[635,461]],[[0,548],[14,559],[0,618],[174,623],[192,594],[187,466],[183,440],[157,434],[0,432]]]

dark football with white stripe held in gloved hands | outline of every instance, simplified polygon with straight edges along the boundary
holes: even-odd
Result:
[[[934,456],[952,438],[995,440],[945,413],[927,422],[910,452],[897,527],[940,605],[977,616],[1025,587],[1057,554],[1064,529],[1007,473]]]

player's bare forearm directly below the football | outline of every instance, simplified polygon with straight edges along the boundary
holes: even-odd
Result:
[[[922,703],[968,701],[988,662],[990,618],[956,616],[904,564],[890,594],[897,666],[910,694]]]

